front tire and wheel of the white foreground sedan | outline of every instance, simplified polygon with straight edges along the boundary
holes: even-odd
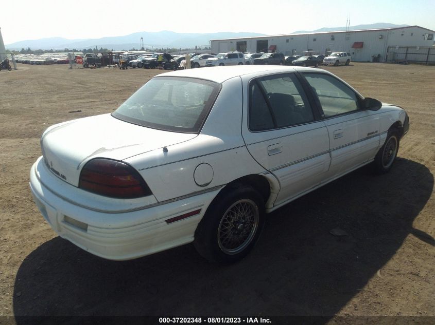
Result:
[[[399,133],[395,129],[388,131],[384,145],[379,149],[373,162],[377,174],[385,174],[390,171],[399,151]]]

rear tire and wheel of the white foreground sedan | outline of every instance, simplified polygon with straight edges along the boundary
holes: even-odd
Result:
[[[264,225],[264,199],[252,187],[237,184],[219,193],[195,232],[194,246],[212,262],[245,257]]]

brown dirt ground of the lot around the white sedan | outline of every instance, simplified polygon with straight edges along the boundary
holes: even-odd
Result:
[[[0,323],[42,322],[28,316],[435,323],[435,66],[323,67],[407,110],[410,131],[395,166],[384,176],[361,168],[280,208],[252,253],[227,266],[208,263],[192,245],[104,260],[58,237],[32,201],[29,169],[43,130],[111,112],[162,71],[18,68],[0,72]],[[347,236],[331,235],[335,228]],[[288,319],[297,321],[274,323]]]

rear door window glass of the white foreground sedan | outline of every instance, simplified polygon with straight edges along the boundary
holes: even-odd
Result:
[[[250,84],[249,129],[262,131],[314,121],[295,74],[260,78]]]

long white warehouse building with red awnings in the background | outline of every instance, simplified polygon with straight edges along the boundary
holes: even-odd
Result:
[[[351,52],[352,61],[408,60],[435,62],[435,31],[420,26],[313,32],[211,40],[214,53],[281,52],[284,55]]]

